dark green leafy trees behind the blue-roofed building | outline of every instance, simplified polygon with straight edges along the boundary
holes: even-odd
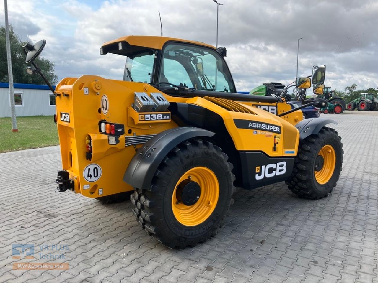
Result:
[[[9,39],[11,42],[11,57],[13,68],[14,83],[31,83],[36,85],[45,85],[39,75],[28,75],[25,71],[27,65],[25,63],[25,53],[22,46],[26,42],[22,42],[20,37],[15,34],[14,28],[9,26]],[[58,76],[54,73],[55,64],[41,56],[34,61],[42,73],[45,75],[51,85],[56,85]],[[0,26],[0,82],[8,82],[8,65],[6,62],[6,45],[5,45],[5,27]]]

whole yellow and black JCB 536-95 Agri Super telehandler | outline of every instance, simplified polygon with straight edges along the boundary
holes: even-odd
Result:
[[[24,47],[33,65],[28,73],[40,73],[33,60],[44,45]],[[253,107],[283,98],[237,94],[225,48],[125,36],[104,43],[100,53],[127,57],[123,80],[68,77],[54,91],[63,166],[57,192],[105,201],[134,191],[139,225],[181,249],[217,232],[234,186],[286,181],[310,199],[326,197],[336,186],[342,143],[325,127],[336,122],[298,122],[295,109],[278,117]],[[324,75],[324,65],[314,67],[314,89]],[[298,87],[311,85],[305,81]]]

